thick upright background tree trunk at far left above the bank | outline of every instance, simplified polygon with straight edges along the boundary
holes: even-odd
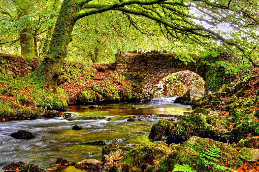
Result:
[[[29,8],[29,7],[28,7]],[[19,16],[18,20],[22,20],[22,17],[27,14],[28,9],[19,9]],[[20,45],[21,45],[21,56],[29,56],[35,57],[35,50],[34,50],[34,41],[33,37],[30,36],[32,31],[30,28],[31,24],[28,23],[26,28],[22,29],[20,32]]]

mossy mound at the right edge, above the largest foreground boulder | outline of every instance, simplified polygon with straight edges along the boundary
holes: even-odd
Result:
[[[246,114],[243,122],[240,122],[234,129],[222,133],[222,141],[227,143],[238,142],[244,138],[259,135],[259,119],[252,114]]]

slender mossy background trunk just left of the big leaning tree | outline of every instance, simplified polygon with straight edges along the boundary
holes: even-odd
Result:
[[[53,2],[53,11],[58,10],[59,2],[60,1],[57,1],[57,0],[55,0]],[[56,14],[51,14],[50,18],[55,20],[57,18],[57,15]],[[46,39],[44,41],[44,46],[43,46],[43,51],[44,51],[43,53],[44,54],[46,54],[48,52],[49,43],[50,43],[50,40],[52,38],[53,30],[54,30],[54,27],[55,27],[55,22],[56,21],[53,21],[52,25],[48,27],[48,32],[47,32]]]

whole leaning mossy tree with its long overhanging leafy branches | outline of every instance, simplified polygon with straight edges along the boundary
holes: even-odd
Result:
[[[258,66],[254,53],[258,45],[258,4],[246,0],[130,0],[119,2],[94,0],[64,0],[58,14],[49,48],[35,72],[25,77],[26,82],[55,93],[62,64],[67,56],[71,33],[80,18],[109,10],[121,11],[131,25],[143,34],[145,23],[134,16],[155,21],[165,38],[178,46],[203,45],[215,48],[221,44],[231,51],[239,50],[243,56]],[[228,24],[231,35],[226,35],[219,25]]]

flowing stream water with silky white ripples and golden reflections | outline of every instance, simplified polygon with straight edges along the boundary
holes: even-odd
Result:
[[[67,118],[13,120],[0,122],[0,168],[14,161],[34,163],[41,168],[54,165],[58,157],[74,162],[83,159],[101,159],[102,146],[85,145],[85,142],[116,139],[121,146],[137,146],[149,142],[152,125],[159,119],[175,119],[191,106],[175,104],[176,97],[152,99],[150,103],[69,106]],[[128,122],[131,116],[142,121]],[[139,115],[149,115],[141,117]],[[170,117],[169,117],[170,116]],[[83,130],[72,130],[81,125]],[[15,139],[9,135],[19,129],[33,132],[34,139]],[[76,171],[74,167],[60,169]],[[81,171],[81,169],[80,169]]]

